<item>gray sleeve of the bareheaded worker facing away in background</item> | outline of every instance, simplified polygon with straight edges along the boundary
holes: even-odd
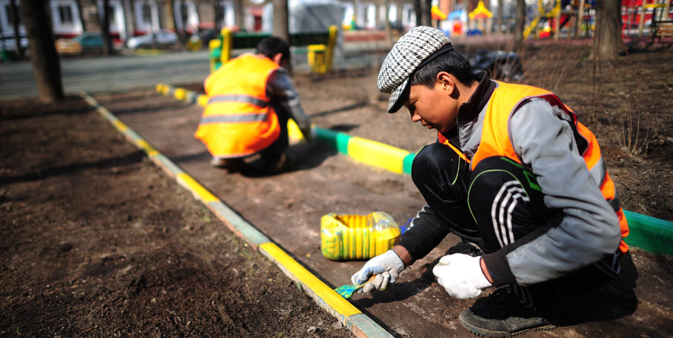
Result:
[[[311,119],[301,107],[299,94],[294,89],[290,81],[290,75],[285,68],[278,68],[268,77],[266,91],[297,122],[299,129],[302,131],[310,130]]]

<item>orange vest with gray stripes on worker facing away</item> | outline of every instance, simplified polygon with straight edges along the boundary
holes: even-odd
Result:
[[[194,137],[213,157],[244,157],[270,146],[281,134],[266,95],[266,81],[278,64],[246,53],[229,60],[204,83],[208,104]]]

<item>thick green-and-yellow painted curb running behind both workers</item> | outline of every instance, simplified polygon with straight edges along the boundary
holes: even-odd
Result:
[[[204,106],[208,101],[206,95],[199,95],[184,88],[175,88],[172,85],[160,83],[156,89],[159,93],[173,95],[177,100],[184,102],[198,103]],[[315,130],[316,139],[331,144],[336,151],[358,162],[397,174],[411,174],[414,153],[343,132],[335,132],[315,126],[313,126],[313,130]],[[290,131],[290,137],[302,137],[301,132],[297,134],[293,133],[292,129]],[[673,255],[673,245],[671,244],[673,243],[673,222],[626,210],[624,214],[629,222],[630,229],[629,236],[625,238],[628,245],[654,254]]]

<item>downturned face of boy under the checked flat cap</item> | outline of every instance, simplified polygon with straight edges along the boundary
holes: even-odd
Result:
[[[450,83],[448,83],[450,82]],[[452,97],[455,83],[437,80],[433,89],[424,85],[412,85],[405,107],[412,122],[421,122],[424,127],[446,133],[456,126],[458,100]]]

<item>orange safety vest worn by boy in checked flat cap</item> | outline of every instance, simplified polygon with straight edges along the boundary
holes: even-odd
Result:
[[[521,159],[519,159],[516,152],[514,152],[511,144],[511,137],[509,135],[509,119],[512,113],[521,105],[521,102],[530,99],[531,97],[543,98],[544,100],[547,100],[550,105],[560,107],[560,109],[565,111],[573,119],[572,126],[575,134],[575,142],[578,145],[578,151],[587,164],[587,168],[592,173],[592,176],[602,177],[600,191],[608,203],[610,203],[610,206],[615,210],[615,213],[617,213],[617,217],[620,220],[620,228],[622,231],[620,251],[626,253],[628,245],[624,242],[624,238],[629,235],[629,226],[622,208],[618,205],[618,199],[615,199],[617,196],[615,183],[610,179],[610,175],[607,174],[607,168],[601,157],[600,147],[598,147],[598,140],[594,134],[588,130],[587,127],[578,122],[575,112],[564,105],[553,93],[528,85],[496,82],[498,83],[498,87],[491,95],[488,107],[486,108],[486,115],[484,115],[484,125],[481,129],[481,142],[471,161],[456,147],[449,144],[449,141],[443,137],[442,134],[439,134],[439,142],[451,147],[454,149],[454,152],[458,152],[461,158],[470,163],[471,170],[474,170],[476,165],[479,164],[482,159],[491,156],[507,157],[508,159],[512,159],[521,164]]]

